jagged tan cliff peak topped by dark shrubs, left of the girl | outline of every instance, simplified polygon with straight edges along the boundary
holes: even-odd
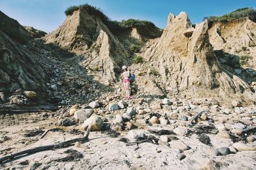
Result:
[[[84,56],[81,66],[97,69],[104,76],[103,83],[116,80],[116,71],[127,64],[129,53],[98,17],[80,9],[68,15],[56,31],[45,36],[46,43],[61,46]]]

